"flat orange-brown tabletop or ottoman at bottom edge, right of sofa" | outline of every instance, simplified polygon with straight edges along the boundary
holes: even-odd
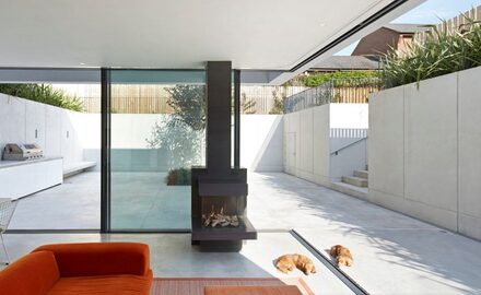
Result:
[[[206,286],[204,295],[302,295],[296,286]]]

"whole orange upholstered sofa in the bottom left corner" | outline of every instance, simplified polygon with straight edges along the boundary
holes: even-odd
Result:
[[[0,272],[0,295],[150,294],[149,246],[46,245]]]

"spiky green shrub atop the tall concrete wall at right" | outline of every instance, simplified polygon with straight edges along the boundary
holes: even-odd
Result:
[[[466,17],[466,16],[465,16]],[[383,87],[400,86],[481,66],[481,26],[467,19],[454,32],[431,26],[424,42],[413,40],[406,51],[391,50],[384,59]],[[447,22],[443,25],[447,27]]]

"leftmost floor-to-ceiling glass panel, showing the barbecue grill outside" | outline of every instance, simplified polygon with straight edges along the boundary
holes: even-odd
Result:
[[[101,228],[99,82],[95,69],[0,69],[9,231]]]

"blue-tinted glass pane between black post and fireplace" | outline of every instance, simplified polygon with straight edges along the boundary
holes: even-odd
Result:
[[[110,80],[110,229],[190,229],[190,167],[204,165],[204,71],[112,70]]]

